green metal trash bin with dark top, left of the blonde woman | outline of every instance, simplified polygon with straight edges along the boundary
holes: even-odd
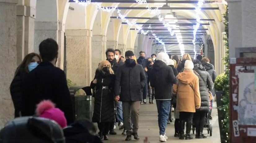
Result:
[[[86,95],[75,95],[75,93],[82,89]],[[93,115],[93,98],[91,88],[89,86],[74,86],[69,88],[70,93],[73,93],[72,100],[74,106],[75,119],[88,119],[92,121]]]

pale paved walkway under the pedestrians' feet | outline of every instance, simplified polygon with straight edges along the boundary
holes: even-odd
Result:
[[[204,130],[204,134],[208,137],[207,139],[192,139],[192,140],[179,140],[177,137],[174,136],[174,122],[170,125],[167,125],[166,128],[166,136],[168,137],[167,142],[174,142],[174,143],[219,143],[220,142],[220,135],[219,135],[219,128],[218,128],[218,116],[217,116],[217,108],[216,102],[214,104],[214,109],[212,112],[213,120],[210,123],[213,125],[213,135],[210,137],[207,134],[207,131]],[[174,116],[173,116],[174,117]],[[115,129],[117,135],[109,135],[109,140],[104,141],[104,143],[112,142],[112,143],[121,143],[126,142],[125,136],[121,136],[122,130]],[[135,141],[132,137],[132,141],[129,143],[143,143],[144,138],[147,136],[149,138],[150,143],[157,143],[159,142],[159,128],[157,125],[157,107],[156,104],[142,104],[140,106],[140,116],[139,116],[139,141]],[[192,134],[192,131],[191,131]],[[195,135],[193,135],[195,138]]]

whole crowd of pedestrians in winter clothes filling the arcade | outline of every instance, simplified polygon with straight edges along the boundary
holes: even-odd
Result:
[[[140,104],[156,103],[159,141],[168,140],[166,126],[174,120],[171,112],[175,118],[174,137],[192,139],[194,123],[195,137],[206,138],[202,129],[205,117],[211,114],[216,78],[209,59],[198,55],[192,60],[186,53],[180,58],[164,52],[146,58],[144,51],[136,59],[133,51],[126,51],[123,56],[118,49],[107,49],[106,60],[99,63],[90,83],[94,97],[92,122],[99,129],[96,133],[88,120],[74,121],[65,73],[55,66],[56,41],[42,41],[39,52],[26,55],[15,71],[10,86],[15,118],[39,116],[54,120],[63,128],[67,143],[108,140],[108,134],[117,134],[114,126],[118,122],[117,128],[123,129],[125,140],[131,141],[132,136],[139,140]]]

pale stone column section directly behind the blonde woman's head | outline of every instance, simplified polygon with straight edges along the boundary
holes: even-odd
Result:
[[[92,78],[95,76],[95,70],[98,68],[99,63],[107,59],[106,58],[106,46],[107,37],[104,35],[93,35],[91,40],[91,68],[92,68]]]

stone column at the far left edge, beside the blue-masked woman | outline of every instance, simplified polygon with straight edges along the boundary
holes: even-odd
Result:
[[[0,0],[0,127],[14,118],[10,84],[17,68],[17,15],[18,0]]]

